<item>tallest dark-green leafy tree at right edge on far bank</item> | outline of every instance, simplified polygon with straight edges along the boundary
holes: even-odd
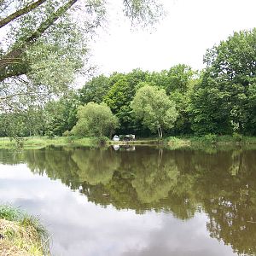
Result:
[[[256,29],[235,32],[207,50],[207,69],[193,97],[193,127],[200,133],[256,131]]]

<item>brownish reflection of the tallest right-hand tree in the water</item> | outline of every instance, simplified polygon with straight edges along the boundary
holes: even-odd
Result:
[[[210,218],[207,229],[212,237],[231,244],[237,253],[254,255],[256,253],[255,151],[226,153],[218,164],[215,169],[207,168],[198,183],[203,191],[202,205]]]

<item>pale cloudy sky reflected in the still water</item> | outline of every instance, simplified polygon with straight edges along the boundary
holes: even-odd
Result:
[[[56,256],[234,255],[230,246],[210,238],[203,213],[184,222],[171,213],[102,208],[26,165],[0,165],[0,198],[42,219]]]

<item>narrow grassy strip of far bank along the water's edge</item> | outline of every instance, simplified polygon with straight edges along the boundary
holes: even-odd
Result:
[[[256,145],[256,137],[243,137],[239,134],[234,136],[216,136],[208,134],[204,137],[158,137],[142,138],[132,142],[113,142],[107,137],[24,137],[10,140],[8,137],[0,138],[0,148],[44,148],[49,145],[56,146],[98,146],[100,144],[132,144],[132,145],[153,145],[165,144],[172,148],[197,147],[199,145]]]

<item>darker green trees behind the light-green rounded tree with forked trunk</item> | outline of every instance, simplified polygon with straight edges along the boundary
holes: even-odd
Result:
[[[119,118],[119,133],[136,133],[145,137],[152,132],[155,133],[157,129],[149,129],[148,125],[143,124],[142,119],[136,118],[131,108],[131,102],[137,90],[143,85],[154,85],[159,89],[166,90],[170,99],[177,103],[179,119],[173,129],[168,131],[184,134],[191,132],[188,114],[189,95],[195,81],[196,73],[186,65],[177,65],[160,73],[135,69],[131,73],[113,73],[108,78],[101,75],[92,79],[84,85],[79,94],[83,103],[106,102]],[[171,126],[172,124],[169,125],[169,127]]]

